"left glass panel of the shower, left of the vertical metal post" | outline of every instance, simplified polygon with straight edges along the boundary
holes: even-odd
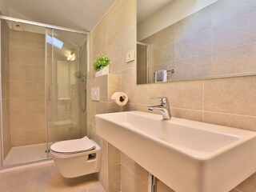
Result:
[[[46,155],[45,28],[1,21],[3,165]]]

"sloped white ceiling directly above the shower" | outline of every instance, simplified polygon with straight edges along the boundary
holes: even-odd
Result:
[[[19,13],[34,22],[92,30],[115,0],[9,0],[10,17]],[[16,14],[18,15],[18,14]]]

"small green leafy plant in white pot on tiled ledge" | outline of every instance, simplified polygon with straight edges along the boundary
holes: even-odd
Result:
[[[104,74],[109,73],[109,65],[110,65],[110,58],[104,55],[99,55],[98,58],[96,58],[93,61],[93,67],[96,71],[95,76],[101,76]]]

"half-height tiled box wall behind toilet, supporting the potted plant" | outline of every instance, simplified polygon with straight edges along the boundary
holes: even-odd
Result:
[[[91,99],[90,90],[99,87],[99,101]],[[120,191],[120,152],[110,143],[98,137],[95,130],[95,114],[117,112],[120,107],[111,102],[111,95],[120,90],[120,75],[107,74],[87,81],[87,135],[102,147],[101,171],[99,180],[106,191]]]

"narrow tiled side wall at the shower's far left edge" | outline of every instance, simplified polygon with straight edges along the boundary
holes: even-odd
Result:
[[[1,72],[2,72],[2,138],[3,158],[10,150],[10,30],[6,21],[1,21]]]

